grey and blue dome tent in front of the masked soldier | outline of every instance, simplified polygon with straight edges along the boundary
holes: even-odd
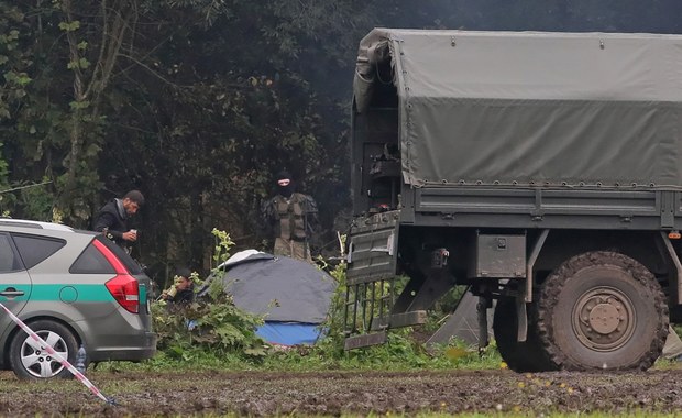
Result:
[[[320,337],[337,287],[329,274],[305,261],[255,250],[234,254],[221,270],[234,305],[265,316],[265,324],[256,330],[265,341],[312,344]]]

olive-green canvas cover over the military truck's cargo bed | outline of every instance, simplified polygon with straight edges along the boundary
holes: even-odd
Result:
[[[682,185],[682,36],[375,29],[355,112],[382,64],[409,185]]]

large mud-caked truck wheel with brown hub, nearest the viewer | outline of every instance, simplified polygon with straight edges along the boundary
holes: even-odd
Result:
[[[619,253],[576,255],[543,283],[538,333],[563,370],[647,370],[668,336],[668,304],[644,265]]]

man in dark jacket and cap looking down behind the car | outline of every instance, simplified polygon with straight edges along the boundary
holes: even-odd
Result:
[[[103,232],[110,240],[130,252],[130,244],[138,241],[138,231],[128,228],[128,220],[142,205],[144,196],[140,190],[131,190],[122,199],[111,199],[95,217],[92,229]]]

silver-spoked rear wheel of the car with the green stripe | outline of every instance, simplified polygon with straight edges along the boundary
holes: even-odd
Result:
[[[76,360],[78,343],[76,337],[65,326],[40,320],[29,323],[29,328],[42,338],[52,349],[67,359]],[[10,366],[22,380],[43,380],[52,377],[69,377],[69,371],[57,359],[51,355],[45,346],[33,340],[24,331],[19,331],[10,344]]]

